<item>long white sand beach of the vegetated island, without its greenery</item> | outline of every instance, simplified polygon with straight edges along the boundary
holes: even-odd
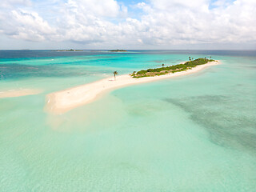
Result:
[[[186,74],[193,74],[208,66],[218,65],[219,62],[208,62],[205,65],[196,66],[191,70],[181,71],[174,74],[165,74],[155,77],[132,78],[129,74],[120,75],[116,81],[114,78],[104,78],[98,82],[92,82],[82,86],[76,86],[67,90],[61,90],[46,96],[45,110],[52,114],[62,114],[75,107],[93,102],[106,91],[114,90],[123,86],[130,86],[143,82],[154,82],[164,78],[174,78]]]

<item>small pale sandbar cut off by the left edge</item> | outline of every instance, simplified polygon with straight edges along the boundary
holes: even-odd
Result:
[[[0,98],[15,98],[30,94],[39,94],[42,90],[0,90]]]

